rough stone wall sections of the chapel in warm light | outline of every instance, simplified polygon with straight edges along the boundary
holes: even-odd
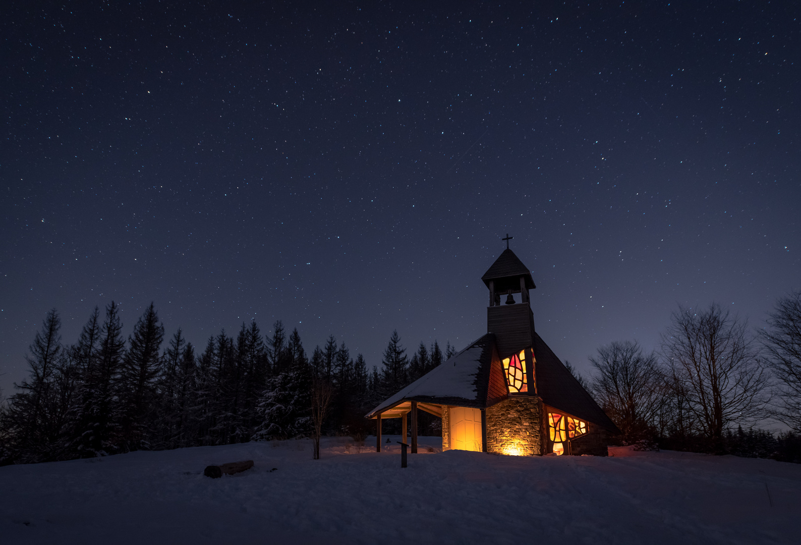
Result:
[[[533,395],[509,396],[487,407],[487,452],[522,456],[542,454],[541,407],[540,398]],[[442,426],[445,430],[444,419]]]

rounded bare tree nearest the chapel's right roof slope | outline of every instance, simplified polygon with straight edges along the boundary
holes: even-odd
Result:
[[[662,403],[662,379],[654,353],[643,353],[637,341],[614,341],[599,348],[590,363],[598,371],[590,388],[620,428],[622,442],[653,438]]]

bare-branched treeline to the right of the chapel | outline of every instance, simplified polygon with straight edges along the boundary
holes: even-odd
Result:
[[[590,377],[568,369],[620,428],[619,445],[801,462],[801,292],[756,331],[714,303],[679,306],[658,351],[615,341],[590,364]],[[768,419],[787,430],[755,428]]]

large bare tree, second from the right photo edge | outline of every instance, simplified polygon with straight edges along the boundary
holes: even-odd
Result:
[[[671,321],[662,351],[697,431],[719,442],[727,427],[762,418],[769,375],[746,321],[716,303],[697,312],[679,305]]]

